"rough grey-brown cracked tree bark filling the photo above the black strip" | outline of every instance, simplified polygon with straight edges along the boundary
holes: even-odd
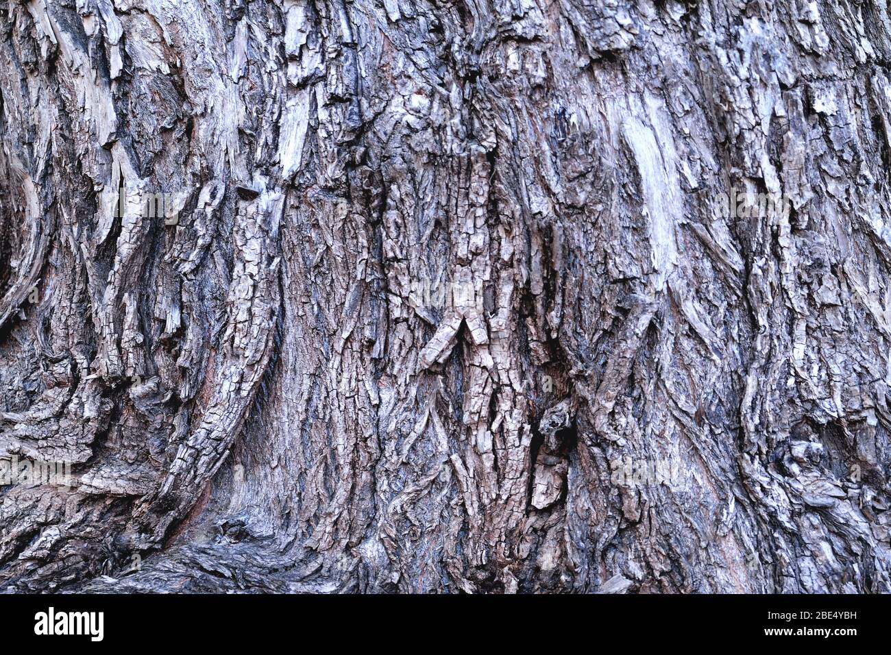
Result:
[[[0,457],[74,471],[0,589],[891,591],[889,67],[883,0],[0,4]]]

